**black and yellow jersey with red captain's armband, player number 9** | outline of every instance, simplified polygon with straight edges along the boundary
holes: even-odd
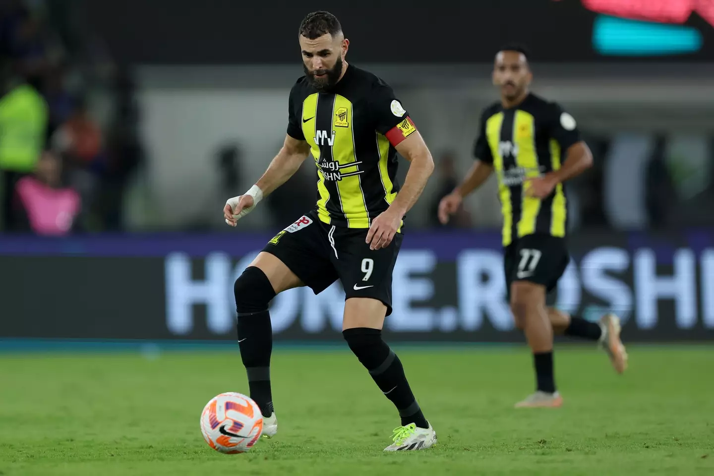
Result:
[[[288,136],[310,145],[324,223],[369,228],[396,198],[394,146],[414,131],[392,88],[352,65],[329,92],[316,91],[306,76],[290,92]]]

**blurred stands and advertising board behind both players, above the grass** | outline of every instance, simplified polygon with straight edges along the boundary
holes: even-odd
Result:
[[[408,214],[391,339],[523,340],[495,178],[436,219],[511,41],[595,157],[567,184],[573,261],[554,302],[614,310],[630,340],[714,339],[714,0],[472,3],[0,1],[0,338],[233,339],[233,280],[313,207],[315,168],[237,229],[222,208],[281,146],[298,25],[328,9],[436,161]],[[342,300],[339,283],[283,293],[276,338],[338,340]]]

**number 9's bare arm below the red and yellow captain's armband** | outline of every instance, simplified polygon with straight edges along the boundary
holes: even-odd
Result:
[[[419,131],[414,131],[397,144],[398,153],[409,161],[409,169],[396,198],[386,211],[372,221],[367,232],[367,243],[370,248],[378,250],[391,243],[401,225],[404,215],[414,206],[426,186],[429,176],[434,171],[434,161],[431,152],[424,143]]]

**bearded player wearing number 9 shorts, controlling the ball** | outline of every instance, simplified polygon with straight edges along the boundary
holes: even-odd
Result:
[[[315,159],[316,208],[280,231],[236,280],[238,345],[251,398],[265,417],[263,434],[275,435],[268,303],[283,290],[306,285],[318,294],[339,279],[346,293],[343,337],[401,417],[385,450],[423,450],[436,443],[436,432],[381,328],[392,310],[403,218],[433,171],[431,153],[392,88],[347,64],[349,41],[335,16],[306,16],[299,41],[305,76],[290,92],[283,148],[260,180],[223,210],[226,223],[236,226],[308,154]],[[410,162],[401,190],[397,152]]]

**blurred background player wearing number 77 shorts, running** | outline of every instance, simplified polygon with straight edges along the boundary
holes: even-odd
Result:
[[[535,393],[516,407],[560,407],[563,398],[553,378],[554,332],[598,341],[618,373],[627,366],[627,354],[614,314],[591,323],[545,305],[546,293],[555,288],[570,261],[563,182],[583,173],[593,158],[573,116],[528,90],[532,79],[525,49],[511,45],[498,51],[493,83],[501,88],[501,101],[481,114],[473,151],[476,163],[463,183],[441,200],[438,214],[446,223],[463,198],[496,171],[506,293],[516,326],[526,333],[533,351],[537,384]]]

